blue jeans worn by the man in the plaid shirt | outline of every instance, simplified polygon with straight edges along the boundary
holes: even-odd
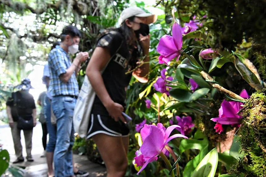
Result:
[[[74,144],[73,113],[76,99],[69,96],[52,98],[52,109],[56,117],[57,135],[54,150],[55,177],[72,176],[72,147]]]

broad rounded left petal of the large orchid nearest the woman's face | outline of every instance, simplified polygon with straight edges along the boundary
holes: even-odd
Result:
[[[164,35],[161,37],[157,47],[157,52],[160,53],[160,55],[168,57],[173,53],[177,53],[177,50],[172,36]]]

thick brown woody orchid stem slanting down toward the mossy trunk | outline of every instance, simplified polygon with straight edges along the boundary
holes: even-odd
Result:
[[[200,74],[202,75],[202,77],[205,79],[205,80],[209,80],[209,81],[214,81],[214,79],[206,72],[204,71],[201,71]],[[241,100],[241,101],[244,101],[246,102],[246,99],[243,99],[241,96],[235,94],[234,92],[232,91],[229,91],[227,89],[225,89],[224,87],[220,86],[219,84],[217,83],[212,83],[210,82],[210,84],[216,88],[218,91],[222,91],[224,92],[225,94],[229,95],[231,98],[234,98],[234,99],[238,99],[238,100]]]

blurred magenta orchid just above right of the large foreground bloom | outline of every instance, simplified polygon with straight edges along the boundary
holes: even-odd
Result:
[[[179,116],[175,116],[177,120],[177,125],[179,128],[176,128],[182,135],[187,135],[191,132],[191,128],[195,126],[192,124],[191,116],[183,116],[182,119]],[[170,124],[173,124],[173,121]]]

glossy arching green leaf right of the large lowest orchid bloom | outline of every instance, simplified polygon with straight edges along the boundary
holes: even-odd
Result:
[[[208,147],[208,140],[183,139],[180,143],[179,150],[183,153],[185,150],[197,149],[202,150]]]

